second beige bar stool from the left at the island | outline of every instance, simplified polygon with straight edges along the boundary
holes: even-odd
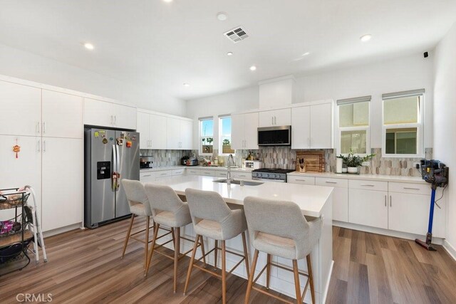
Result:
[[[170,258],[174,261],[174,281],[173,281],[173,290],[177,290],[177,265],[181,258],[190,253],[189,251],[182,253],[180,255],[180,240],[185,239],[187,241],[193,241],[185,237],[180,236],[180,227],[186,226],[192,223],[192,218],[190,217],[190,210],[188,205],[183,202],[176,192],[167,186],[155,185],[155,184],[145,184],[145,193],[149,199],[150,209],[152,209],[152,217],[155,221],[155,230],[154,236],[152,238],[152,244],[150,245],[149,257],[147,258],[147,265],[145,268],[144,276],[147,276],[147,271],[149,271],[150,261],[152,259],[152,254],[155,252],[156,248],[165,246],[167,243],[172,241],[174,243],[174,256],[169,256],[166,253],[156,251],[162,256]],[[163,229],[161,227],[167,226],[170,227],[170,230]],[[157,238],[158,230],[163,229],[165,231],[170,231],[167,234],[164,234]],[[162,243],[158,246],[155,246],[157,240],[172,234],[172,240]],[[198,242],[195,242],[198,243]],[[201,239],[202,243],[202,239]]]

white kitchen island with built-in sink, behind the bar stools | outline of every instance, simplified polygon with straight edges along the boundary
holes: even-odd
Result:
[[[321,238],[312,251],[312,267],[314,269],[314,283],[316,291],[316,302],[324,303],[326,293],[328,292],[329,280],[333,266],[332,251],[332,187],[321,187],[301,184],[286,184],[281,182],[264,182],[255,186],[238,184],[226,184],[214,182],[219,177],[203,176],[176,176],[166,177],[152,184],[165,184],[175,190],[177,194],[185,196],[185,189],[199,189],[204,191],[218,192],[228,204],[236,208],[242,208],[244,198],[247,196],[257,196],[263,199],[277,199],[282,201],[294,201],[306,217],[319,217],[323,219],[323,229]],[[195,236],[192,224],[182,229],[186,236]],[[163,238],[165,239],[165,238]],[[204,240],[204,244],[213,248],[214,241]],[[183,250],[187,251],[192,248],[192,243],[182,241]],[[168,246],[172,248],[171,246]],[[242,240],[240,237],[227,241],[227,247],[232,251],[242,253]],[[249,255],[252,258],[253,249],[249,246]],[[199,253],[200,254],[200,253]],[[214,256],[209,256],[209,263],[213,263]],[[232,268],[239,258],[227,253],[227,269]],[[251,260],[252,261],[252,260]],[[273,261],[283,266],[291,267],[291,261],[274,256]],[[266,254],[260,253],[257,273],[266,263]],[[220,264],[219,264],[220,265]],[[299,269],[306,272],[305,261],[299,261]],[[235,275],[247,278],[245,266],[238,267],[234,272]],[[266,277],[263,275],[257,283],[265,285]],[[306,279],[300,277],[301,288],[304,288]],[[192,288],[192,286],[190,286]],[[295,297],[293,273],[278,268],[271,269],[270,288],[291,297]],[[310,292],[306,293],[304,299],[307,303],[311,302]]]

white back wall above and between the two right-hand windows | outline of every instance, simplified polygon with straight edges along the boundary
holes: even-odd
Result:
[[[431,53],[432,56],[432,53]],[[296,102],[372,95],[371,148],[382,147],[382,94],[424,88],[425,147],[432,147],[433,61],[423,54],[297,78]]]

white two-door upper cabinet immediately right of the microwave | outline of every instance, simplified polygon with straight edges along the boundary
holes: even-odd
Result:
[[[306,105],[291,109],[291,148],[333,148],[332,103]]]

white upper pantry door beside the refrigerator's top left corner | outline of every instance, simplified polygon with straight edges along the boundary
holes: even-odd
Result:
[[[82,97],[43,90],[41,104],[41,132],[43,136],[82,138]]]

